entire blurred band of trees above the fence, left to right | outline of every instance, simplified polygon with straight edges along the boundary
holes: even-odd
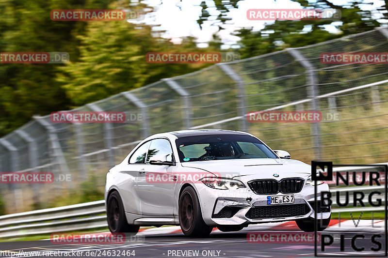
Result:
[[[274,52],[286,47],[306,46],[372,30],[380,24],[360,3],[336,6],[328,0],[295,0],[304,7],[338,8],[342,11],[339,33],[324,30],[332,21],[276,21],[259,32],[244,28],[237,32],[242,58]],[[201,26],[210,22],[222,30],[228,12],[239,0],[201,2]],[[365,3],[362,3],[365,4]],[[220,12],[210,17],[209,6]],[[193,38],[174,45],[155,33],[152,26],[117,22],[58,22],[50,20],[52,9],[133,8],[129,0],[0,0],[1,52],[68,52],[67,64],[0,65],[0,136],[31,120],[33,115],[81,106],[112,94],[139,88],[162,78],[186,74],[208,64],[147,63],[147,52],[214,51],[221,48],[217,35],[210,46],[198,49]],[[137,4],[137,8],[145,8]],[[384,11],[386,7],[380,8]],[[388,16],[387,12],[384,14]],[[215,19],[214,19],[215,18]]]

